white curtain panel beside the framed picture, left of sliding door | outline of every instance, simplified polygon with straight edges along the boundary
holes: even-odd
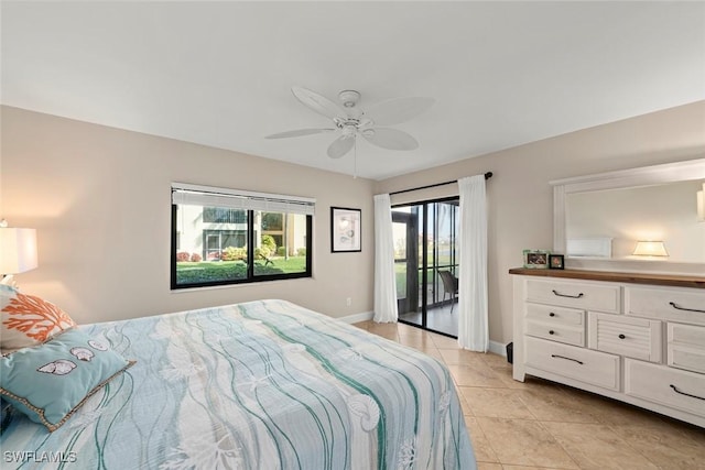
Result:
[[[379,194],[375,196],[373,320],[377,323],[394,323],[398,318],[392,205],[388,194]]]

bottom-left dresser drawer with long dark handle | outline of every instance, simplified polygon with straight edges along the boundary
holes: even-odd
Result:
[[[524,337],[524,350],[529,367],[619,391],[618,356],[532,337]]]

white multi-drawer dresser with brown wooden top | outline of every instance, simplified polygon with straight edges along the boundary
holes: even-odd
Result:
[[[513,269],[513,376],[705,427],[705,277]]]

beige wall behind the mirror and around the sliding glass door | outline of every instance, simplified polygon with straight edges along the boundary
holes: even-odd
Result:
[[[703,153],[705,101],[699,101],[386,179],[376,183],[375,193],[494,172],[487,184],[489,331],[491,340],[509,342],[512,284],[508,270],[521,265],[523,249],[553,247],[550,181],[690,160]]]

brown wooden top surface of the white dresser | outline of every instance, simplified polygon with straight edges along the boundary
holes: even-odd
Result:
[[[509,274],[705,288],[704,276],[680,274],[617,273],[610,271],[587,270],[536,270],[527,267],[512,267],[509,270]]]

